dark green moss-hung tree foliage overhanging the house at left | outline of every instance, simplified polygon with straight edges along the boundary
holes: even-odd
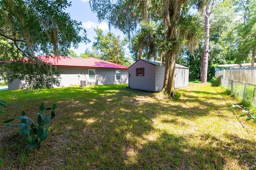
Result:
[[[59,82],[54,78],[58,72],[36,56],[66,56],[71,45],[89,42],[86,30],[79,35],[82,23],[64,12],[69,6],[67,0],[0,1],[0,77],[8,82],[25,80],[30,83],[28,88],[48,88],[45,82],[51,79],[51,83]],[[25,57],[28,62],[23,63]]]

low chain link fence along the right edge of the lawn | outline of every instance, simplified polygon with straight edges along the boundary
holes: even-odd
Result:
[[[256,107],[256,85],[221,78],[221,85],[242,101],[244,106]]]

